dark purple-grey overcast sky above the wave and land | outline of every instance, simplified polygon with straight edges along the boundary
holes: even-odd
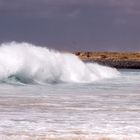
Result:
[[[140,50],[140,0],[0,0],[0,43]]]

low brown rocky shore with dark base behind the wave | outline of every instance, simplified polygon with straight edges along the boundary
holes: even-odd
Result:
[[[140,69],[140,52],[75,52],[85,62],[97,62],[116,68]]]

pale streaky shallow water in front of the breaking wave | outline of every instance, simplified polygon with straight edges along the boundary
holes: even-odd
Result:
[[[140,70],[90,84],[0,84],[0,139],[140,139]]]

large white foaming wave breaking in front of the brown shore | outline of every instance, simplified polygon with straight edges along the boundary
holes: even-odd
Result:
[[[15,78],[24,83],[91,83],[118,76],[110,67],[84,63],[70,53],[60,53],[29,43],[0,45],[0,80]]]

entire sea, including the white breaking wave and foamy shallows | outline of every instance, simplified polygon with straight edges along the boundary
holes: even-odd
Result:
[[[140,70],[28,43],[0,46],[0,140],[139,140]]]

